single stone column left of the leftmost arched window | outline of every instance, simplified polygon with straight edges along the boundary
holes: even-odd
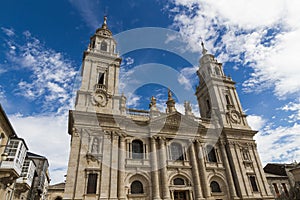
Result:
[[[125,155],[126,155],[126,148],[125,148],[125,138],[120,136],[120,147],[119,147],[119,177],[118,177],[118,198],[120,200],[126,199],[125,198]]]

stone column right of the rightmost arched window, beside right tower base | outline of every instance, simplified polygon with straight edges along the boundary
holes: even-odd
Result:
[[[228,156],[226,154],[226,149],[225,149],[225,142],[221,143],[221,156],[222,156],[222,161],[225,166],[225,172],[226,172],[226,177],[228,181],[228,187],[229,187],[229,192],[230,192],[230,197],[234,199],[236,197],[236,192],[235,192],[235,185],[233,182],[232,174],[231,174],[231,168],[228,162]]]

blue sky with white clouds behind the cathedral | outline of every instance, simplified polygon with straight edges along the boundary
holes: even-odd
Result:
[[[62,181],[69,154],[67,115],[80,82],[82,53],[107,15],[116,35],[145,27],[177,31],[182,54],[188,52],[194,58],[149,48],[124,53],[119,47],[125,93],[124,83],[149,63],[173,69],[170,73],[193,93],[202,37],[237,83],[248,121],[259,130],[255,139],[263,164],[299,161],[299,13],[296,0],[4,1],[0,8],[0,102],[30,151],[48,157],[51,183]],[[163,111],[167,87],[144,84],[127,91],[127,104],[147,109],[154,95]],[[182,111],[185,99],[174,95]],[[197,113],[195,98],[188,100]]]

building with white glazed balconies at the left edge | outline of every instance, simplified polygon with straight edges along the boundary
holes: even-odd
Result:
[[[40,176],[38,165],[28,152],[25,141],[15,133],[1,105],[0,134],[0,199],[31,199],[34,179]]]

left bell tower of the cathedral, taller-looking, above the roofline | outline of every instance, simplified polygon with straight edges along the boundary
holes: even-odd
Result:
[[[121,57],[117,43],[104,17],[101,28],[90,38],[82,61],[82,83],[77,91],[75,110],[121,114],[125,97],[119,95],[119,69]]]

